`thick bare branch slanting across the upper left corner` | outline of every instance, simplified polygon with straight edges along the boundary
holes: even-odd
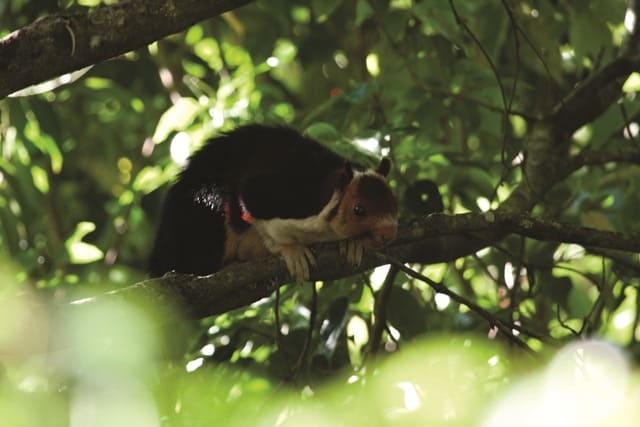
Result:
[[[251,0],[124,0],[39,19],[0,40],[0,99],[189,28]]]

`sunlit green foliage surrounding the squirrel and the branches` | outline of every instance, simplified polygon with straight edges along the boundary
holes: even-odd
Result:
[[[59,7],[100,3],[109,2],[14,0],[0,5],[2,35]],[[55,333],[105,340],[24,357],[58,339],[34,306],[144,278],[167,184],[189,152],[243,123],[294,126],[365,164],[388,154],[405,218],[429,212],[416,197],[441,197],[447,213],[497,208],[527,179],[521,166],[536,118],[616,58],[625,8],[623,0],[261,0],[70,85],[0,101],[1,412],[12,425],[66,425],[107,402],[104,425],[462,426],[481,423],[507,383],[576,338],[602,337],[635,363],[637,254],[516,235],[412,267],[517,329],[512,338],[535,359],[468,306],[388,267],[287,286],[166,334],[150,332],[159,321],[148,323],[151,308],[103,307]],[[638,80],[631,74],[617,102],[566,137],[570,153],[638,148]],[[637,162],[579,168],[533,212],[637,232],[639,175]],[[439,194],[405,199],[425,180]],[[376,300],[387,320],[379,337]],[[33,325],[42,329],[29,335]],[[21,336],[31,338],[17,344]],[[606,351],[613,355],[594,360],[620,360]],[[616,381],[595,384],[623,390]],[[527,384],[536,393],[539,384]],[[622,398],[611,405],[606,414],[630,408]],[[637,416],[626,414],[620,425]]]

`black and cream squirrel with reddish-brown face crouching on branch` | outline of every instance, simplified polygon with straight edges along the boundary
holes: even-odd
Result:
[[[307,245],[340,246],[360,264],[365,247],[393,240],[397,200],[375,170],[353,165],[293,129],[247,125],[193,154],[165,199],[149,274],[207,275],[223,266],[280,254],[296,282],[315,265]]]

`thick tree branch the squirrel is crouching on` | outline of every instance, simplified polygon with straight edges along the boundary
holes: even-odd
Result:
[[[402,262],[446,262],[472,254],[507,233],[539,240],[640,252],[638,235],[623,235],[499,212],[453,216],[438,214],[420,218],[401,227],[398,240],[386,252]],[[318,267],[312,274],[314,280],[343,278],[383,263],[383,258],[367,254],[360,266],[350,266],[340,255],[335,243],[314,249],[318,261]],[[182,314],[187,317],[202,318],[251,304],[271,295],[278,286],[287,282],[290,282],[290,278],[284,262],[274,256],[233,264],[206,277],[169,274],[102,296],[76,301],[72,306],[91,306],[105,299],[126,298],[151,303],[167,319],[176,315],[176,307],[180,307]]]

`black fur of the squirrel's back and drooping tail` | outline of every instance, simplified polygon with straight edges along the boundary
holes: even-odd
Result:
[[[317,142],[278,127],[245,126],[196,152],[167,194],[149,273],[210,274],[224,256],[225,223],[317,214],[344,182],[345,161]]]

